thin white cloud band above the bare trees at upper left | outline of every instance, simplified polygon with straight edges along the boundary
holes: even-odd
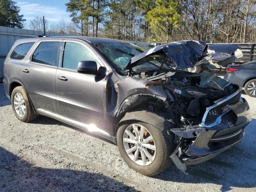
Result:
[[[65,9],[29,2],[18,2],[18,6],[20,7],[20,14],[23,14],[27,21],[36,16],[44,16],[50,22],[57,22],[62,18],[64,21],[70,22],[69,14]]]

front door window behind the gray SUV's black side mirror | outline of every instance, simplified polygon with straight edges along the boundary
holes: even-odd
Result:
[[[80,61],[95,61],[94,55],[83,45],[66,42],[63,55],[63,68],[77,70]]]

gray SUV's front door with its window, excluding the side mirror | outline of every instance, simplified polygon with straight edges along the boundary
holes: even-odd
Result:
[[[104,82],[95,75],[77,72],[78,62],[98,57],[82,42],[64,40],[62,67],[56,72],[56,105],[58,114],[86,129],[104,129]],[[93,130],[92,130],[93,131]]]

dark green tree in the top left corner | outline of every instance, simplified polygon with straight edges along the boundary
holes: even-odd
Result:
[[[0,26],[23,28],[23,15],[20,15],[20,8],[12,0],[0,0]]]

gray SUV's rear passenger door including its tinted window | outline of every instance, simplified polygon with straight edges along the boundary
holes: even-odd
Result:
[[[36,109],[57,112],[55,75],[61,43],[60,39],[37,42],[20,68],[20,80]]]

